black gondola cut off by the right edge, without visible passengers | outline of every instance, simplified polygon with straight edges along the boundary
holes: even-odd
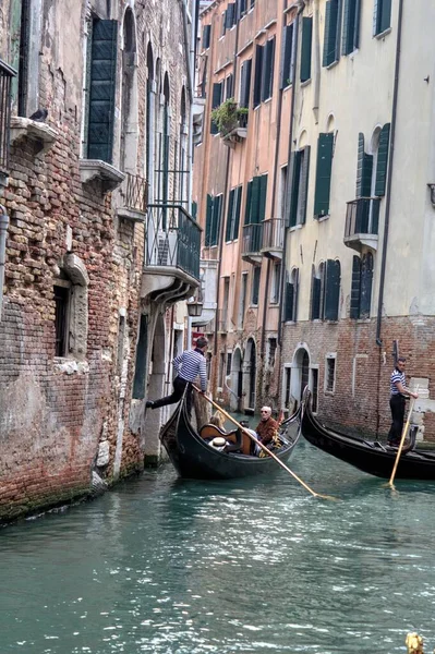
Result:
[[[368,474],[384,479],[391,476],[397,447],[342,434],[322,425],[313,415],[307,389],[301,408],[301,432],[312,445]],[[416,450],[414,446],[415,434],[411,431],[400,456],[396,479],[435,481],[435,452]]]

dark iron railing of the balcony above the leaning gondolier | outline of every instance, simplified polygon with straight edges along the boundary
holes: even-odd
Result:
[[[182,206],[149,204],[146,266],[180,268],[200,280],[201,232]]]

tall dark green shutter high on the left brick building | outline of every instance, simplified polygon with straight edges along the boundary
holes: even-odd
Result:
[[[87,158],[112,162],[118,22],[93,23]]]

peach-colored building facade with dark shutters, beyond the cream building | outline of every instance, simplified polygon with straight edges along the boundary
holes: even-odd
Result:
[[[193,198],[205,237],[203,271],[210,261],[217,270],[212,299],[217,311],[205,327],[198,318],[197,329],[210,339],[215,397],[244,411],[264,402],[279,408],[295,11],[277,0],[217,0],[201,16],[196,90],[205,105]],[[212,119],[215,107],[220,107],[218,125]],[[212,306],[207,292],[209,287],[204,300]]]

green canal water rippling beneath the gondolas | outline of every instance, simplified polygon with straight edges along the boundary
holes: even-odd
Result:
[[[0,653],[404,652],[435,646],[435,484],[397,493],[302,443],[268,480],[170,465],[0,531]]]

